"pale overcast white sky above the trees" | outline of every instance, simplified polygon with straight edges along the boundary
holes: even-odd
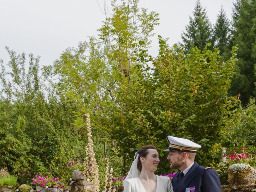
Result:
[[[110,0],[105,0],[110,9]],[[216,22],[221,5],[231,19],[234,0],[201,0],[210,22]],[[99,3],[99,5],[98,5]],[[5,46],[17,53],[40,56],[40,65],[50,65],[68,47],[97,36],[105,16],[104,0],[0,0],[0,58],[9,61]],[[196,0],[140,0],[139,7],[160,14],[150,54],[157,55],[160,34],[169,45],[181,41],[180,34],[192,16]]]

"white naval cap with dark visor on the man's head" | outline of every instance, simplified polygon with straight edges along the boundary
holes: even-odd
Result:
[[[164,152],[182,151],[196,153],[196,150],[202,147],[188,139],[174,136],[167,136],[167,141],[170,145]]]

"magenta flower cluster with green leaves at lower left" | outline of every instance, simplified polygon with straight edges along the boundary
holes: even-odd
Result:
[[[43,188],[48,186],[49,188],[61,188],[63,191],[67,189],[63,185],[63,181],[60,181],[58,178],[43,176],[43,175],[36,175],[36,178],[32,178],[31,184],[42,186]]]

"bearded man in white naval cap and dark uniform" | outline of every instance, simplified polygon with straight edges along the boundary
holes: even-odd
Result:
[[[168,136],[167,157],[170,168],[179,169],[172,179],[174,192],[221,192],[220,178],[210,167],[195,162],[196,150],[200,145],[184,138]]]

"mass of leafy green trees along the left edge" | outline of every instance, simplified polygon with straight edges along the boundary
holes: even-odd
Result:
[[[0,72],[0,166],[17,174],[21,183],[29,184],[35,174],[48,171],[64,177],[68,161],[78,154],[66,139],[76,134],[70,126],[72,106],[44,89],[49,85],[39,76],[39,57],[29,54],[26,70],[26,54],[7,51],[10,71],[1,60]]]

